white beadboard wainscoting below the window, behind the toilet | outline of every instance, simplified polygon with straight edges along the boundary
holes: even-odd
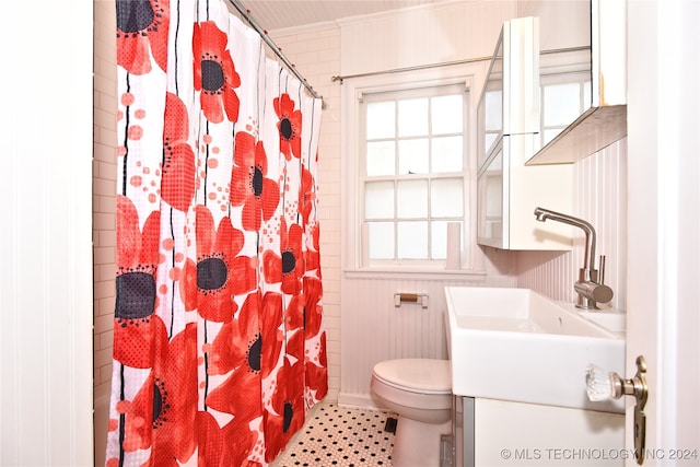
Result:
[[[370,380],[377,362],[389,359],[447,359],[444,288],[513,287],[513,280],[495,276],[472,280],[410,280],[392,278],[346,279],[341,285],[340,393],[346,407],[376,407]],[[397,292],[424,293],[420,303],[395,306]]]

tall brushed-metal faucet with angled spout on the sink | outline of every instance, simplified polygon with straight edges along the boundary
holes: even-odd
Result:
[[[612,300],[612,289],[605,285],[605,256],[600,256],[600,273],[595,269],[595,229],[588,222],[571,215],[550,211],[548,209],[535,208],[535,219],[545,222],[562,222],[583,230],[586,235],[586,245],[583,256],[583,268],[579,269],[579,280],[573,284],[573,289],[579,294],[576,307],[583,310],[598,310],[598,303],[607,303]]]

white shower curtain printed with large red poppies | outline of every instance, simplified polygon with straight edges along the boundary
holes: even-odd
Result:
[[[327,393],[320,101],[222,0],[117,0],[108,466],[265,466]]]

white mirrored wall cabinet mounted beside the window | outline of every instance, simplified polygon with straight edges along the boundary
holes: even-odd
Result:
[[[571,229],[535,220],[538,206],[569,212],[569,165],[527,167],[540,145],[538,20],[503,24],[477,108],[477,242],[502,249],[567,250]]]

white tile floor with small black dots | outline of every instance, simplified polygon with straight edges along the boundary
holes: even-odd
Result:
[[[272,466],[390,467],[394,433],[385,431],[388,418],[396,416],[322,401]]]

